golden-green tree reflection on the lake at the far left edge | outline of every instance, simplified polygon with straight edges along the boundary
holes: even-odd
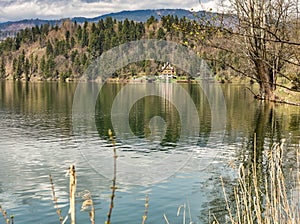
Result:
[[[75,83],[0,82],[0,108],[24,116],[28,125],[72,130]],[[48,122],[54,120],[55,122]],[[51,126],[51,127],[50,127]]]

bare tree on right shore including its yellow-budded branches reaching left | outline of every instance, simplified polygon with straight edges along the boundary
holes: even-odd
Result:
[[[298,0],[227,0],[224,13],[195,25],[192,37],[218,62],[216,51],[229,55],[225,62],[236,72],[259,83],[257,97],[279,100],[277,78],[285,77],[300,89],[300,25]],[[199,21],[198,21],[199,23]],[[219,37],[219,33],[221,33]],[[197,34],[197,35],[196,35]],[[200,40],[200,41],[199,41]],[[203,41],[205,40],[205,41]],[[210,50],[205,50],[210,48]],[[213,53],[211,53],[213,52]],[[235,63],[230,58],[237,58]],[[236,63],[238,61],[238,63]],[[293,74],[285,72],[292,66]],[[291,89],[290,86],[282,87]]]

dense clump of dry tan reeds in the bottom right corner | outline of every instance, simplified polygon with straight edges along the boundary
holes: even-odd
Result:
[[[282,170],[283,143],[274,144],[267,153],[267,173],[264,179],[257,175],[257,150],[254,141],[254,159],[250,168],[244,165],[239,168],[238,185],[234,187],[234,202],[230,205],[221,177],[223,193],[230,223],[240,224],[271,224],[300,223],[299,186],[300,174],[289,192]],[[299,151],[297,152],[297,167],[299,169]],[[295,193],[298,196],[295,196]]]

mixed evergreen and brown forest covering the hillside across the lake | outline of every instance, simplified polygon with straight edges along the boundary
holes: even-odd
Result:
[[[241,57],[239,46],[243,45],[241,39],[244,37],[234,34],[235,27],[228,20],[223,20],[224,17],[204,18],[190,20],[168,15],[162,16],[160,20],[151,16],[146,22],[135,22],[107,17],[97,23],[80,24],[67,19],[61,25],[44,24],[26,28],[17,33],[16,37],[0,43],[0,78],[26,81],[74,80],[81,77],[90,63],[103,52],[128,41],[155,38],[178,42],[197,51],[207,60],[212,74],[219,81],[248,76],[259,82],[254,75],[246,74],[247,70],[251,71],[247,68],[249,62]],[[224,26],[222,20],[227,25]],[[297,37],[297,33],[293,35]],[[290,53],[295,48],[285,49]],[[298,48],[293,51],[293,55],[297,55]],[[280,67],[280,75],[293,83],[293,88],[299,88],[299,67],[295,61],[298,59],[292,57],[289,60],[293,63]],[[161,66],[162,62],[142,61],[122,68],[114,76],[126,79],[155,75]],[[179,68],[177,73],[183,74]]]

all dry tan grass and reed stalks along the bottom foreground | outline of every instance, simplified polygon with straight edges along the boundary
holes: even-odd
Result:
[[[111,187],[111,202],[109,212],[107,214],[106,224],[111,224],[111,215],[114,208],[114,198],[116,192],[116,178],[117,178],[117,153],[115,148],[115,140],[112,136],[112,132],[109,131],[110,140],[113,144],[114,153],[114,172]],[[254,142],[254,146],[256,142]],[[226,191],[226,186],[221,177],[223,193],[226,202],[226,209],[228,211],[228,220],[226,223],[232,224],[296,224],[300,223],[300,170],[297,170],[296,177],[293,179],[293,187],[287,188],[287,182],[283,175],[282,169],[282,156],[283,156],[283,143],[275,144],[266,155],[266,175],[261,178],[257,174],[258,164],[256,147],[254,147],[253,164],[246,168],[244,165],[239,167],[238,172],[238,184],[233,189],[234,200],[230,200]],[[297,167],[300,168],[300,153],[297,151]],[[260,167],[261,168],[261,167]],[[69,212],[63,219],[61,210],[58,208],[58,198],[55,195],[54,183],[52,176],[50,175],[50,183],[53,194],[53,202],[55,204],[56,213],[59,217],[61,224],[66,223],[70,217],[70,223],[75,224],[75,197],[76,197],[76,172],[75,166],[71,165],[69,168],[70,175],[70,206]],[[290,183],[290,182],[289,182]],[[89,216],[92,224],[95,224],[95,208],[91,193],[85,190],[78,194],[84,201],[81,206],[81,211],[90,209]],[[78,196],[77,195],[77,196]],[[189,223],[193,223],[190,214],[189,204],[181,205],[178,208],[177,216],[180,215],[180,211],[183,211],[183,221],[186,223],[186,212],[188,207]],[[145,211],[142,217],[142,224],[146,223],[149,209],[149,198],[146,195]],[[3,216],[6,224],[13,224],[14,217],[8,216],[7,212],[0,206],[0,214]],[[169,221],[166,214],[164,219],[167,224]],[[213,223],[219,223],[214,217]]]

